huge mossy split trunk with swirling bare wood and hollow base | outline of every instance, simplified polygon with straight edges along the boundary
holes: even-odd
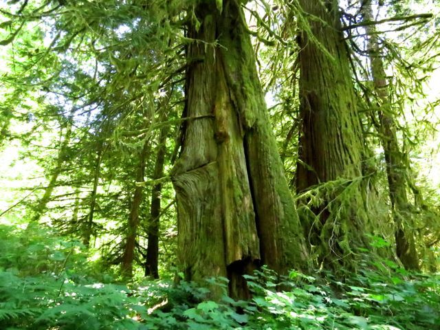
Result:
[[[230,280],[266,264],[305,267],[307,251],[238,0],[195,6],[188,28],[186,122],[173,168],[178,261],[187,280]],[[197,19],[197,21],[196,21]],[[219,291],[212,288],[212,296]]]

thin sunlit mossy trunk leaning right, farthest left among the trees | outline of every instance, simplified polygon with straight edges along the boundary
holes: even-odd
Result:
[[[45,189],[43,197],[41,197],[39,203],[37,204],[35,210],[34,210],[34,217],[32,217],[32,221],[39,221],[41,218],[41,215],[43,214],[47,203],[50,201],[50,197],[52,196],[52,192],[54,192],[54,188],[56,186],[56,180],[58,179],[58,176],[63,171],[63,166],[66,161],[67,157],[67,147],[69,146],[70,139],[72,138],[72,120],[73,120],[73,114],[69,116],[69,122],[67,124],[66,133],[64,136],[64,140],[61,143],[61,146],[58,151],[58,158],[56,159],[56,165],[52,172],[52,175],[49,180],[49,184],[47,185],[47,188]]]

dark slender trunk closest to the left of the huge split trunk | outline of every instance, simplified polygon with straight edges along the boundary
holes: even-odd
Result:
[[[160,179],[164,176],[167,135],[168,129],[166,126],[160,131],[153,179]],[[161,192],[162,184],[155,184],[151,192],[150,223],[148,223],[148,247],[146,249],[145,263],[145,276],[151,276],[152,278],[159,278],[157,264],[159,261],[159,217]]]

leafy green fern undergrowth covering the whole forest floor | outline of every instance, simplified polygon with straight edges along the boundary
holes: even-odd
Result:
[[[263,268],[245,276],[251,300],[214,302],[186,281],[118,283],[83,251],[50,228],[0,225],[0,329],[440,329],[440,276],[389,261],[344,282]]]

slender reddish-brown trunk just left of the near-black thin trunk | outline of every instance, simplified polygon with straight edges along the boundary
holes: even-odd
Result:
[[[142,146],[142,151],[140,151],[139,165],[137,166],[136,173],[136,182],[144,181],[145,161],[149,151],[149,140],[146,140],[144,142],[144,146]],[[128,278],[131,278],[133,276],[133,261],[135,259],[136,236],[137,228],[139,226],[140,206],[142,204],[142,200],[144,199],[143,190],[144,188],[142,186],[135,186],[133,200],[131,202],[124,254],[122,255],[122,274]]]

